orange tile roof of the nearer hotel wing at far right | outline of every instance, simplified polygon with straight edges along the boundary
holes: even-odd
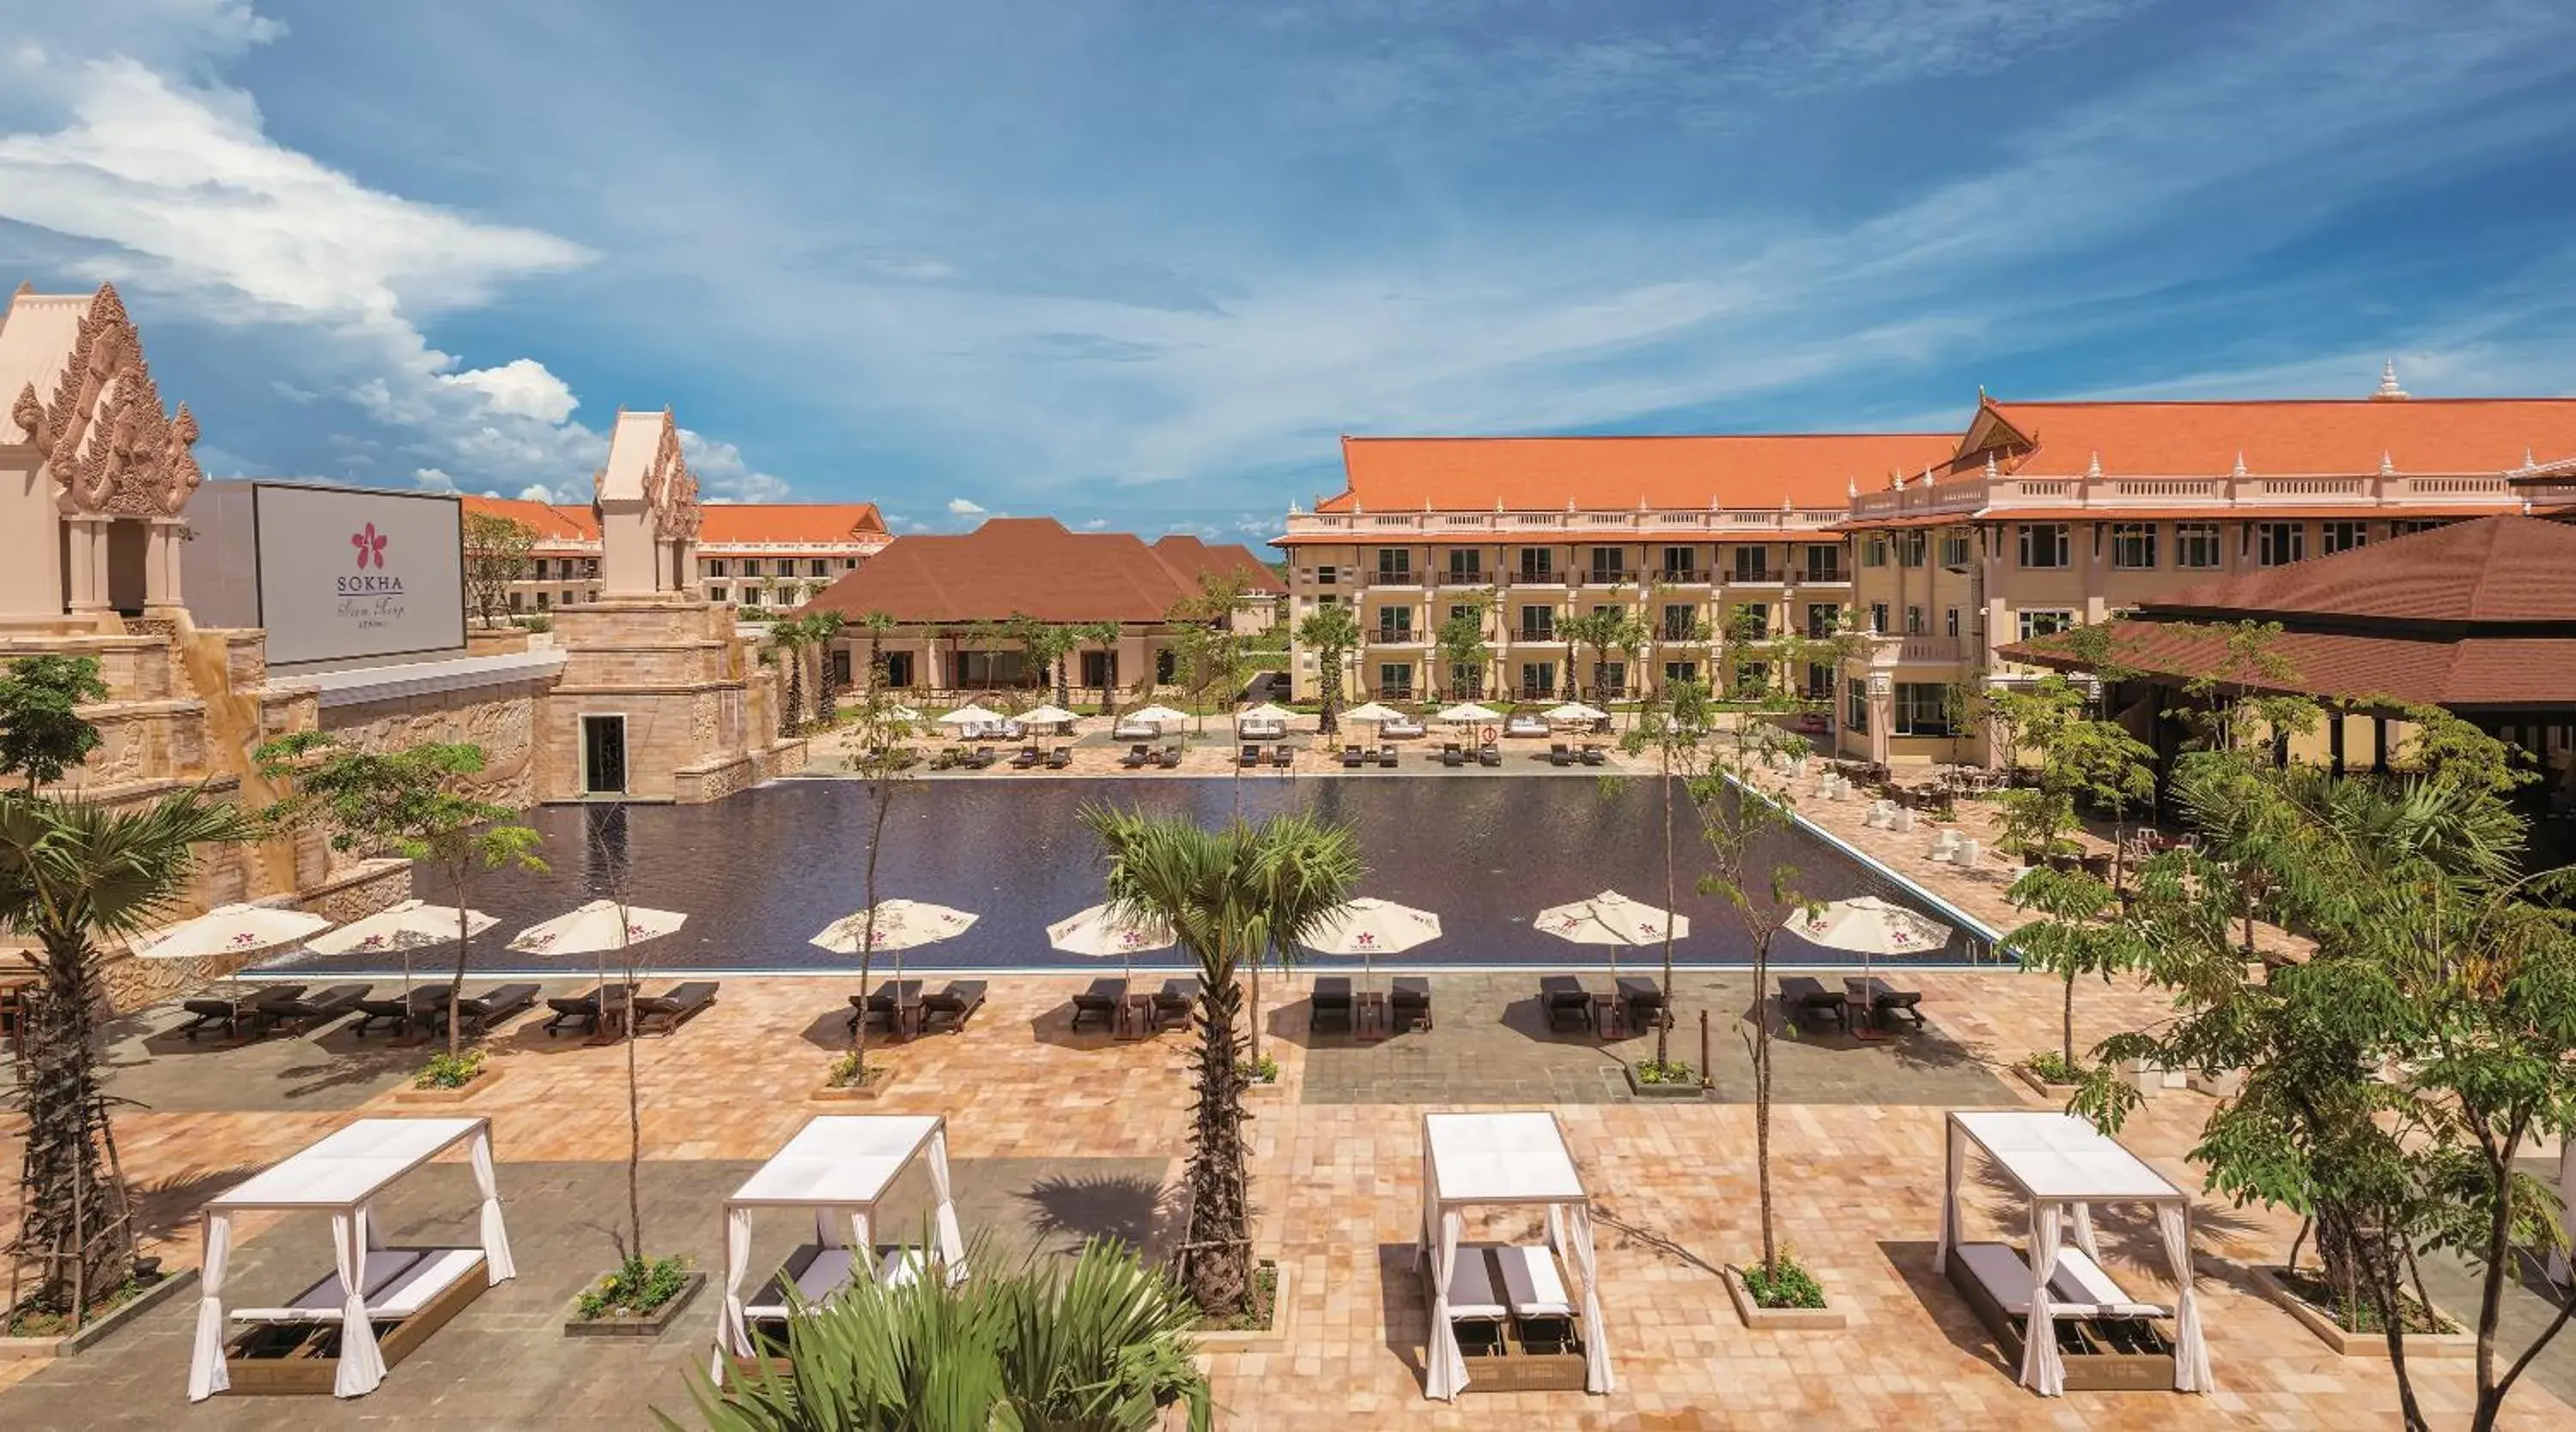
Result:
[[[1989,399],[1960,438],[1973,456],[1984,417],[1996,415],[2035,443],[2007,464],[2022,476],[2079,476],[2102,458],[2112,476],[2233,471],[2370,474],[2385,453],[2396,471],[2501,474],[2524,461],[2576,456],[2576,399],[2290,399],[2290,402],[1999,402]],[[1978,448],[1981,451],[1981,448]]]

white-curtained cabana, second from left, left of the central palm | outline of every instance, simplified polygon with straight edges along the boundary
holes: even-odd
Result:
[[[788,1288],[819,1306],[866,1270],[878,1283],[922,1275],[922,1249],[876,1244],[876,1205],[912,1159],[930,1169],[938,1203],[938,1259],[956,1283],[966,1277],[966,1239],[948,1187],[948,1120],[938,1115],[822,1115],[806,1120],[786,1149],[724,1200],[724,1308],[716,1316],[714,1375],[726,1357],[755,1357],[752,1324],[786,1321]],[[788,1254],[762,1295],[744,1303],[752,1262],[752,1211],[811,1208],[814,1241]]]

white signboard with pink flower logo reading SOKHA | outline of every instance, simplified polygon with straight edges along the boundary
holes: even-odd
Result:
[[[263,482],[255,510],[273,664],[464,649],[464,507],[453,497]]]

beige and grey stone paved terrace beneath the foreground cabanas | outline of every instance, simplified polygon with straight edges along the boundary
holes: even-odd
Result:
[[[1525,976],[1515,976],[1525,979]],[[1757,1252],[1752,1107],[1731,1074],[1726,1035],[1747,1007],[1739,976],[1682,986],[1685,1030],[1718,1017],[1718,1095],[1705,1102],[1628,1102],[1579,1041],[1530,1038],[1512,1025],[1525,994],[1502,976],[1435,976],[1437,1030],[1355,1048],[1303,1035],[1303,981],[1267,981],[1270,1053],[1280,1087],[1255,1095],[1260,1244],[1293,1270],[1293,1332],[1267,1350],[1211,1357],[1221,1427],[1489,1427],[1654,1432],[1736,1424],[1795,1427],[2388,1427],[2393,1380],[2367,1360],[2336,1360],[2251,1295],[2246,1267],[2272,1262],[2285,1218],[2202,1208],[2197,1221],[2205,1319],[2221,1393],[2022,1393],[1968,1308],[1935,1277],[1929,1236],[1940,1195],[1940,1110],[1960,1102],[2043,1107],[2002,1066],[2048,1043],[2056,986],[2017,974],[1924,974],[1929,1035],[1857,1046],[1819,1038],[1785,1048],[1775,1110],[1780,1234],[1819,1267],[1847,1332],[1754,1334],[1723,1293],[1718,1265]],[[1600,979],[1600,976],[1592,976]],[[1115,1043],[1066,1030],[1074,979],[999,979],[963,1035],[896,1046],[902,1071],[876,1107],[945,1113],[969,1226],[1007,1241],[1064,1247],[1084,1229],[1167,1239],[1149,1187],[1167,1177],[1188,1128],[1185,1041]],[[814,1113],[809,1102],[840,1038],[845,979],[729,981],[714,1012],[639,1048],[647,1089],[647,1221],[657,1249],[719,1257],[716,1198]],[[2154,1020],[2161,997],[2087,986],[2079,1035]],[[384,1056],[345,1035],[234,1051],[160,1053],[144,1030],[118,1046],[118,1087],[157,1107],[121,1115],[126,1169],[152,1190],[152,1223],[173,1265],[196,1259],[188,1211],[211,1190],[299,1149],[361,1113],[404,1113]],[[1690,1043],[1690,1041],[1685,1041]],[[368,1041],[374,1046],[374,1041]],[[139,1053],[149,1064],[131,1064]],[[353,1404],[327,1399],[183,1401],[188,1306],[165,1306],[111,1344],[64,1362],[0,1365],[0,1427],[644,1427],[652,1406],[685,1411],[688,1368],[706,1355],[703,1298],[657,1344],[567,1342],[556,1319],[577,1285],[605,1270],[621,1190],[621,1051],[549,1041],[538,1020],[492,1038],[500,1082],[466,1107],[495,1120],[502,1195],[526,1272],[443,1329],[386,1386]],[[1558,1071],[1592,1069],[1558,1082]],[[1548,1092],[1540,1095],[1538,1089]],[[1561,1092],[1558,1092],[1561,1089]],[[1618,1089],[1623,1092],[1623,1087]],[[1564,1120],[1595,1192],[1602,1236],[1605,1332],[1618,1391],[1471,1393],[1430,1404],[1419,1388],[1422,1283],[1419,1113],[1481,1100],[1546,1097]],[[2128,1144],[2187,1187],[2182,1162],[2208,1102],[2161,1092]],[[0,1138],[0,1159],[15,1156]],[[389,1203],[397,1223],[453,1221],[461,1169],[430,1169]],[[1991,1198],[1981,1182],[1981,1198]],[[1994,1229],[2004,1229],[1994,1223]],[[1525,1229],[1497,1226],[1502,1234]],[[281,1218],[240,1234],[240,1288],[286,1283],[314,1259],[312,1229]],[[2148,1231],[2105,1218],[2125,1280],[2151,1288]],[[768,1247],[768,1244],[765,1244]],[[268,1283],[263,1283],[268,1280]],[[2568,1362],[2514,1393],[2514,1427],[2566,1427]],[[2419,1365],[2437,1424],[2465,1422],[2463,1365]],[[2555,1391],[2553,1391],[2555,1388]]]

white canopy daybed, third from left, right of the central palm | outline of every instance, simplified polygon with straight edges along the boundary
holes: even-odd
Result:
[[[1466,1211],[1473,1205],[1543,1208],[1548,1241],[1468,1244]],[[1455,1401],[1468,1386],[1461,1321],[1497,1329],[1561,1321],[1574,1329],[1558,1339],[1561,1352],[1533,1355],[1517,1337],[1497,1339],[1499,1355],[1476,1360],[1476,1380],[1486,1391],[1613,1388],[1589,1195],[1553,1113],[1422,1115],[1422,1257],[1432,1303],[1427,1396]],[[1582,1280],[1579,1301],[1566,1293],[1558,1259]]]

